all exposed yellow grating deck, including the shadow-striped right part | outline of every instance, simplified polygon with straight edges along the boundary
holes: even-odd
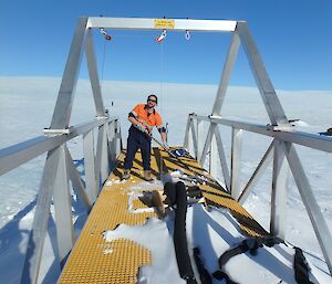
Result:
[[[114,230],[118,224],[144,224],[147,218],[157,218],[155,212],[133,212],[147,208],[138,199],[132,200],[129,210],[128,188],[135,182],[142,182],[141,154],[135,157],[132,178],[118,182],[123,172],[124,154],[120,157],[116,169],[105,182],[103,190],[91,211],[84,229],[75,243],[73,251],[61,274],[59,283],[136,283],[138,269],[152,263],[151,252],[127,239],[106,242],[103,232]],[[208,177],[203,189],[206,202],[210,206],[228,208],[238,220],[245,234],[256,236],[267,234],[252,217],[229,193],[190,157],[181,157],[181,161],[169,157],[165,150],[153,148],[152,173],[159,179],[159,172],[167,173],[183,169],[185,173],[204,175]],[[187,170],[188,167],[191,171]]]

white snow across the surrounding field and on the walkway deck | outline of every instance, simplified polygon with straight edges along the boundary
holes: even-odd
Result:
[[[51,122],[59,86],[59,78],[0,77],[1,148],[42,135],[42,129],[48,127]],[[187,115],[193,112],[199,115],[210,114],[217,91],[217,86],[215,85],[166,83],[164,83],[163,90],[160,90],[160,83],[142,82],[104,82],[102,87],[105,106],[110,109],[111,115],[120,116],[124,145],[126,144],[128,127],[126,115],[135,104],[144,102],[148,93],[156,93],[162,98],[159,99],[158,111],[162,113],[164,120],[168,122],[170,126],[169,145],[181,145]],[[269,123],[257,88],[231,86],[227,92],[225,105],[222,106],[225,117],[241,120],[247,119],[259,124]],[[320,133],[331,127],[332,92],[279,91],[278,94],[288,118],[300,119],[294,123],[298,130]],[[73,105],[72,125],[91,120],[94,117],[95,111],[92,97],[90,83],[87,81],[80,81]],[[220,133],[226,156],[230,160],[230,129],[220,126]],[[270,138],[260,137],[255,134],[245,133],[243,136],[246,144],[242,151],[242,185],[248,180],[271,141]],[[68,146],[73,159],[79,165],[82,159],[81,140],[75,139],[70,141]],[[300,146],[297,146],[297,150],[331,231],[331,154]],[[39,189],[44,158],[44,155],[38,157],[0,177],[0,275],[3,283],[20,282],[20,272],[24,261],[27,240],[33,219],[35,193]],[[80,172],[83,175],[84,171],[81,167]],[[271,168],[269,167],[245,203],[245,208],[267,230],[269,230],[270,218],[270,180]],[[133,183],[133,186],[137,185]],[[77,220],[75,224],[75,234],[77,235],[86,217],[79,202],[73,201],[73,215]],[[55,229],[52,218],[51,214],[49,234],[44,245],[40,283],[54,283],[60,272],[58,255],[53,253],[53,251],[56,251],[56,241],[54,239]],[[172,218],[170,215],[165,221],[149,220],[142,228],[146,231],[146,239],[148,238],[147,232],[153,230],[165,242],[172,242]],[[193,218],[195,218],[195,227],[193,225]],[[208,212],[200,204],[195,204],[188,209],[187,231],[190,232],[189,244],[203,248],[206,266],[210,272],[217,269],[216,259],[227,248],[242,240],[236,223],[228,212],[217,209]],[[113,232],[113,236],[108,236],[117,238],[121,234],[134,235],[134,228],[121,225]],[[218,236],[219,234],[224,235],[224,240]],[[154,250],[153,241],[146,241],[143,234],[142,236],[137,236],[138,240],[142,244],[147,248],[151,245],[151,249]],[[318,278],[318,281],[312,281],[315,283],[332,283],[331,277],[326,276],[328,269],[323,261],[322,252],[291,176],[288,192],[287,241],[289,244],[303,249],[307,260],[311,263],[312,272]],[[159,249],[157,248],[157,250]],[[105,253],[112,253],[112,251]],[[158,265],[162,267],[164,264],[164,271],[167,267],[169,274],[173,274],[172,276],[176,278],[176,273],[172,273],[172,271],[174,272],[175,264],[165,266],[165,263],[163,263],[163,261],[173,257],[172,255],[169,256],[172,252],[160,251],[158,253],[165,255],[165,260],[160,257]],[[211,255],[214,257],[210,257]],[[271,255],[274,255],[278,261],[272,262]],[[246,265],[248,267],[246,272],[239,274],[239,277],[246,277],[246,281],[243,278],[237,280],[240,283],[278,283],[281,274],[287,283],[293,283],[293,271],[290,270],[292,249],[289,246],[280,244],[272,249],[261,249],[258,255],[253,257],[256,262],[251,262],[247,255],[237,256],[229,261],[226,269],[234,275],[234,271],[238,271],[239,267],[245,267]],[[209,262],[210,259],[215,261]],[[141,282],[144,283],[146,278],[153,278],[153,273],[148,267],[143,267],[141,271]],[[252,277],[256,277],[256,282],[249,281]],[[174,282],[168,283],[177,283],[175,278]],[[218,282],[215,281],[214,283]]]

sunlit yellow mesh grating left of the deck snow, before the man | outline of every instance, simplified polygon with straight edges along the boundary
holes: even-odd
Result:
[[[113,180],[114,175],[111,176]],[[118,224],[142,225],[154,212],[131,213],[128,190],[133,181],[105,186],[93,207],[59,280],[59,283],[136,283],[138,269],[152,263],[151,252],[142,245],[120,239],[106,242],[103,232],[114,230]],[[107,183],[106,183],[107,185]],[[133,209],[146,208],[134,200]]]

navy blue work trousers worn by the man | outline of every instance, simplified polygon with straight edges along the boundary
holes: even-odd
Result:
[[[138,149],[141,149],[144,170],[151,170],[151,137],[132,125],[127,139],[127,155],[124,160],[124,169],[133,167],[133,160]]]

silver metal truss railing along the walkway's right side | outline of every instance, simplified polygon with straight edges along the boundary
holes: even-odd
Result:
[[[209,124],[205,144],[203,144],[203,122]],[[231,128],[232,137],[229,168],[218,125]],[[247,183],[241,187],[240,169],[241,152],[245,143],[242,137],[243,132],[271,137],[272,143],[269,145]],[[331,232],[315,200],[294,145],[332,152],[332,139],[330,137],[295,132],[290,128],[282,129],[278,126],[273,127],[270,125],[251,124],[225,119],[218,116],[200,116],[196,114],[190,114],[188,116],[184,141],[184,147],[187,148],[193,157],[196,157],[203,166],[205,165],[206,158],[209,157],[209,171],[215,177],[217,177],[218,170],[216,168],[216,160],[219,158],[225,189],[241,204],[246,201],[268,166],[272,164],[270,233],[280,236],[283,240],[286,239],[287,225],[287,180],[289,172],[291,171],[328,267],[332,274]]]

